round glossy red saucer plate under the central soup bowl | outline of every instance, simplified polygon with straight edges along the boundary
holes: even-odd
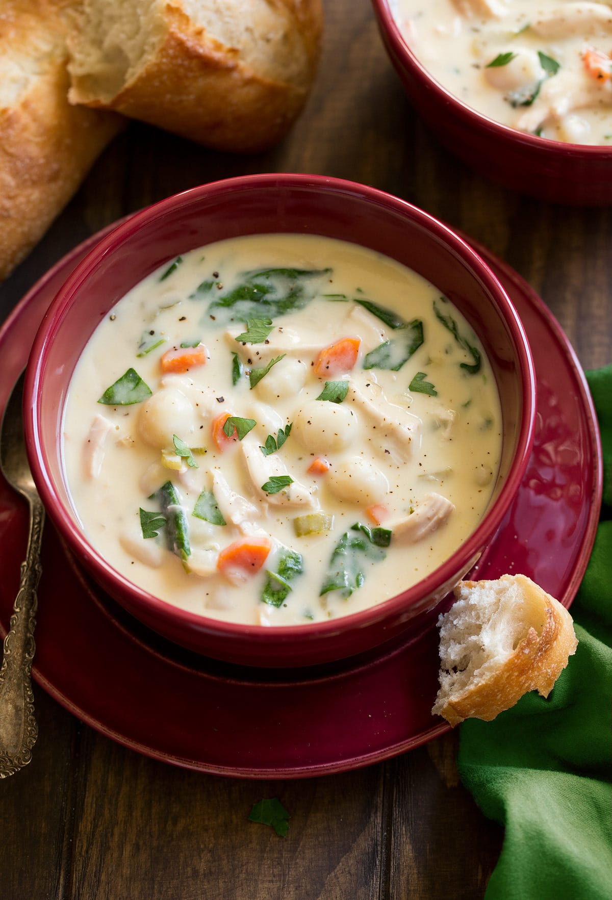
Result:
[[[108,230],[108,229],[106,229]],[[0,413],[55,292],[102,234],[35,284],[0,329]],[[536,442],[479,578],[524,572],[568,607],[595,539],[599,430],[576,356],[544,303],[475,247],[509,292],[537,374]],[[0,629],[17,591],[27,510],[0,476]],[[153,635],[79,570],[48,524],[36,630],[38,683],[88,725],[158,760],[232,777],[305,778],[355,769],[446,731],[430,714],[437,631],[367,660],[302,671],[238,668]]]

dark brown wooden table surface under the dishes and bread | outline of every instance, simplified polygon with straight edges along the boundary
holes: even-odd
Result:
[[[533,285],[582,365],[610,361],[611,211],[509,193],[440,148],[402,93],[368,0],[327,0],[317,84],[274,150],[229,157],[132,123],[0,285],[0,317],[125,213],[195,184],[272,171],[372,184],[463,229]],[[346,774],[239,781],[139,756],[35,695],[33,760],[0,783],[4,900],[473,900],[498,858],[502,830],[459,784],[454,734]],[[285,839],[247,821],[261,797],[290,811]]]

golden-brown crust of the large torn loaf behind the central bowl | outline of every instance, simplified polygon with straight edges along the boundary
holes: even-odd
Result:
[[[163,39],[143,55],[113,96],[105,94],[95,72],[87,70],[82,23],[70,40],[78,65],[69,67],[69,100],[122,112],[214,149],[254,152],[270,147],[284,137],[306,101],[322,29],[320,0],[275,0],[270,6],[280,31],[300,50],[291,56],[301,58],[302,65],[291,72],[275,63],[273,54],[280,52],[274,41],[270,49],[260,42],[258,55],[249,56],[215,39],[183,9],[168,3]],[[270,58],[262,59],[264,52]]]

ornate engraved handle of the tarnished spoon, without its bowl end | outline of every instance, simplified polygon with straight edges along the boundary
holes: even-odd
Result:
[[[36,588],[40,580],[40,545],[45,511],[38,497],[30,498],[30,535],[22,563],[19,591],[11,625],[4,638],[4,660],[0,669],[0,779],[5,779],[31,761],[38,727],[31,691],[31,661],[34,656]]]

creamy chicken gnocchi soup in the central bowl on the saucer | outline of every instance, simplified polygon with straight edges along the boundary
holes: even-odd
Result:
[[[112,308],[63,452],[85,535],[130,581],[209,617],[317,622],[392,597],[473,531],[500,402],[419,275],[328,238],[236,238]]]

